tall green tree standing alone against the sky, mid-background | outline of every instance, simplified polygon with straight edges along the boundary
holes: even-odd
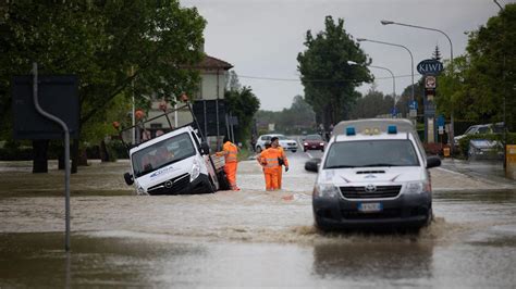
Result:
[[[336,24],[331,16],[324,20],[325,29],[315,37],[306,33],[306,50],[298,53],[298,71],[305,87],[305,99],[311,104],[319,121],[325,126],[348,118],[351,105],[358,95],[355,88],[371,81],[367,68],[351,67],[347,61],[370,64],[367,55],[344,29],[344,20]]]

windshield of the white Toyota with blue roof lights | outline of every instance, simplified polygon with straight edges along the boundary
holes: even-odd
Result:
[[[408,139],[334,142],[328,151],[324,168],[364,166],[419,166]]]

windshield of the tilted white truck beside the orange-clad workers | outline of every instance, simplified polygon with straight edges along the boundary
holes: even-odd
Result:
[[[194,143],[187,133],[171,137],[133,153],[134,175],[140,177],[194,154]]]

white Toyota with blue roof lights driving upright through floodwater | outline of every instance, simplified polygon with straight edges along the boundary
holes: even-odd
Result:
[[[420,228],[432,218],[427,158],[408,120],[341,122],[333,129],[314,188],[320,229]]]

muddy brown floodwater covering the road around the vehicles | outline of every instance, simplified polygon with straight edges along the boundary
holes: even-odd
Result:
[[[242,191],[162,197],[133,196],[127,163],[94,163],[72,176],[69,254],[62,172],[0,163],[0,288],[516,284],[515,191],[434,189],[435,219],[419,234],[323,234],[312,225],[308,158],[290,154],[279,192],[263,191],[248,161]]]

